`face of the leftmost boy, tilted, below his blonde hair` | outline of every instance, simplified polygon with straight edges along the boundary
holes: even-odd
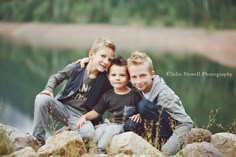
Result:
[[[98,71],[104,72],[111,65],[115,52],[110,48],[101,48],[96,52],[89,52],[89,59]]]

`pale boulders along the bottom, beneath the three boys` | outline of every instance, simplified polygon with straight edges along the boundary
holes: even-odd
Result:
[[[80,135],[75,131],[61,131],[49,137],[46,144],[39,147],[35,139],[16,128],[0,123],[0,129],[6,130],[4,136],[8,136],[10,142],[5,145],[14,145],[14,150],[4,151],[4,139],[0,142],[0,156],[5,157],[167,157],[161,151],[153,147],[141,136],[133,132],[125,132],[115,135],[107,148],[107,154],[94,153],[96,145],[84,143]],[[1,135],[2,136],[2,135]],[[4,137],[3,136],[3,137]],[[3,141],[4,140],[4,141]],[[7,152],[7,153],[6,153]],[[178,153],[171,157],[235,157],[236,135],[231,133],[211,134],[209,130],[193,128],[186,137],[185,145]]]

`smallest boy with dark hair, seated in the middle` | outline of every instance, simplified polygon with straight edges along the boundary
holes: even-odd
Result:
[[[93,120],[108,111],[108,118],[95,130],[97,150],[102,152],[106,151],[114,135],[137,130],[142,126],[140,115],[136,113],[136,105],[141,100],[141,95],[127,86],[129,73],[126,60],[119,56],[112,61],[108,70],[108,79],[113,89],[104,93],[93,110],[77,122],[77,127],[80,128],[87,120]]]

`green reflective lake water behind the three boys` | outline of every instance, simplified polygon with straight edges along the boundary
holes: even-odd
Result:
[[[49,76],[65,65],[87,56],[88,50],[39,49],[0,40],[1,122],[32,132],[35,95],[44,89]],[[117,52],[128,57],[127,52]],[[210,111],[219,109],[216,122],[230,125],[236,111],[236,69],[201,56],[148,54],[156,73],[181,98],[198,127],[209,122]],[[57,89],[54,93],[59,89]],[[219,131],[215,125],[210,128]]]

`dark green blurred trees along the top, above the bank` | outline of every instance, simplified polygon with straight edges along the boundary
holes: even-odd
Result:
[[[0,20],[235,28],[234,0],[1,0]]]

